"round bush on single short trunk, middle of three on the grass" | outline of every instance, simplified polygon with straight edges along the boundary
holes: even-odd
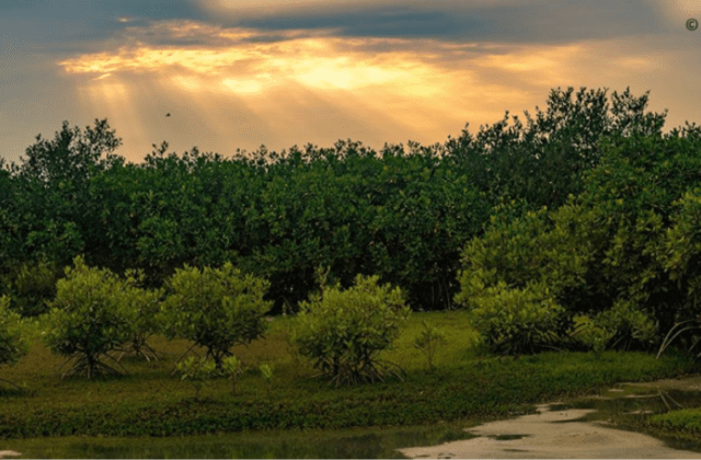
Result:
[[[163,302],[163,320],[169,337],[193,341],[207,348],[221,369],[230,348],[262,337],[267,330],[264,301],[269,284],[252,275],[243,276],[227,263],[220,269],[185,266],[168,281],[172,294]]]

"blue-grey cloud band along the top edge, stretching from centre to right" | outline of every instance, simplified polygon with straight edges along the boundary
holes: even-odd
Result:
[[[334,28],[338,36],[434,37],[471,42],[555,43],[668,31],[653,0],[524,1],[470,7],[378,5],[285,12],[243,19],[262,30]]]

